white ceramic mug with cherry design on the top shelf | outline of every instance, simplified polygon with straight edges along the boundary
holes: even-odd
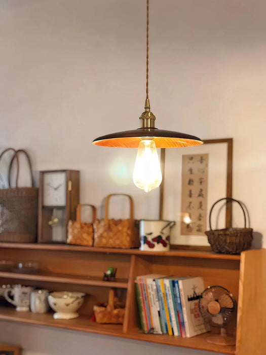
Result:
[[[139,250],[148,252],[166,252],[170,250],[170,230],[174,221],[140,220]]]

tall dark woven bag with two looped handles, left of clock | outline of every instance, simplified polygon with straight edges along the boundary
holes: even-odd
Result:
[[[12,163],[16,160],[16,187],[0,190],[0,241],[30,243],[34,242],[37,236],[38,189],[34,187],[18,187],[18,153],[25,154],[27,158],[33,186],[31,163],[24,150],[15,151],[13,148],[8,148],[2,152],[0,160],[10,150],[15,154],[9,168],[9,185]]]

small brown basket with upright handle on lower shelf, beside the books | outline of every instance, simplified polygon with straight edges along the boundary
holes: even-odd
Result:
[[[115,308],[115,297],[113,290],[109,290],[108,304],[93,307],[95,319],[101,324],[123,324],[125,308]]]

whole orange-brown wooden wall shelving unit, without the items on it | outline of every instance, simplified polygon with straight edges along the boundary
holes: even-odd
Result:
[[[266,353],[266,343],[263,340],[263,334],[266,334],[265,322],[256,321],[252,324],[252,319],[259,319],[258,317],[266,312],[266,301],[261,296],[264,293],[254,292],[254,290],[261,290],[261,285],[266,288],[266,271],[261,271],[261,265],[264,265],[266,270],[265,250],[244,252],[240,257],[190,250],[145,253],[139,250],[75,245],[0,243],[1,259],[39,263],[38,273],[0,271],[2,283],[21,283],[58,291],[82,291],[87,296],[79,310],[81,315],[76,319],[59,320],[54,319],[52,313],[17,312],[11,307],[0,307],[0,319],[218,353],[246,355],[245,349],[251,349],[252,346],[253,352],[250,350],[249,354],[265,355]],[[102,281],[103,272],[110,266],[118,269],[117,281]],[[200,275],[204,278],[206,287],[220,285],[229,289],[239,301],[237,330],[232,326],[237,345],[209,344],[206,341],[208,336],[206,334],[193,338],[143,334],[139,330],[134,277],[147,273]],[[109,287],[116,288],[119,296],[125,297],[126,314],[123,325],[100,325],[90,321],[93,305],[107,300]],[[253,290],[252,296],[250,290]],[[251,300],[250,297],[253,302],[248,302]],[[255,341],[256,338],[260,339],[259,344]]]

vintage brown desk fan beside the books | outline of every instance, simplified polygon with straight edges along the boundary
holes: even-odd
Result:
[[[199,302],[201,315],[210,326],[221,328],[220,334],[211,334],[206,340],[216,345],[235,345],[234,337],[226,334],[225,327],[237,310],[232,293],[221,286],[208,286]]]

